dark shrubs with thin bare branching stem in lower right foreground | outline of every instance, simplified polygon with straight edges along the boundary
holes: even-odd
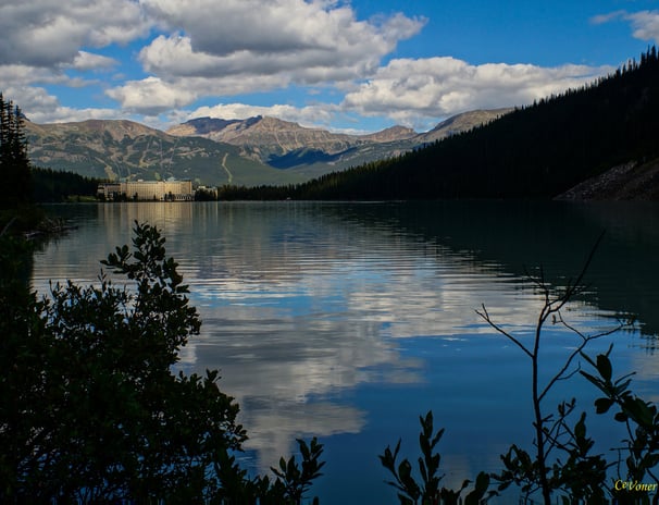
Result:
[[[513,495],[520,496],[520,503],[525,504],[658,503],[659,479],[656,467],[659,465],[659,409],[630,390],[633,373],[613,379],[613,366],[609,357],[612,345],[607,353],[596,358],[585,354],[589,343],[630,328],[633,321],[620,321],[609,330],[586,334],[571,325],[562,316],[568,304],[584,292],[584,275],[601,238],[600,236],[590,250],[579,275],[574,280],[568,280],[564,287],[552,287],[546,282],[542,269],[539,275],[530,276],[543,297],[530,343],[495,322],[484,306],[476,311],[530,360],[534,435],[532,448],[529,449],[527,444],[512,444],[500,457],[501,471],[492,475],[481,472],[475,479],[473,490],[462,497],[462,492],[471,484],[469,480],[457,491],[439,488],[443,478],[438,476],[440,456],[434,451],[444,430],[434,432],[433,414],[428,411],[425,418],[420,418],[421,455],[418,458],[419,468],[415,475],[408,459],[400,464],[397,461],[400,441],[394,451],[387,446],[380,456],[384,468],[394,476],[394,480],[387,483],[398,490],[401,505],[480,504],[494,496],[500,496],[509,488]],[[562,327],[575,340],[564,362],[555,371],[543,367],[540,352],[544,347],[542,344],[548,337],[545,329],[549,323]],[[582,370],[581,365],[576,362],[579,358],[593,370]],[[587,415],[585,411],[577,411],[576,398],[561,402],[556,411],[545,405],[555,386],[560,381],[570,380],[577,372],[604,393],[602,397],[595,401],[596,414],[604,415],[617,408],[614,422],[623,423],[625,428],[627,436],[613,442],[617,445],[610,447],[608,454],[595,451],[597,445],[588,434]],[[599,447],[602,443],[611,443],[599,442]],[[611,454],[613,457],[610,457]],[[490,489],[490,483],[496,484],[496,488]]]

